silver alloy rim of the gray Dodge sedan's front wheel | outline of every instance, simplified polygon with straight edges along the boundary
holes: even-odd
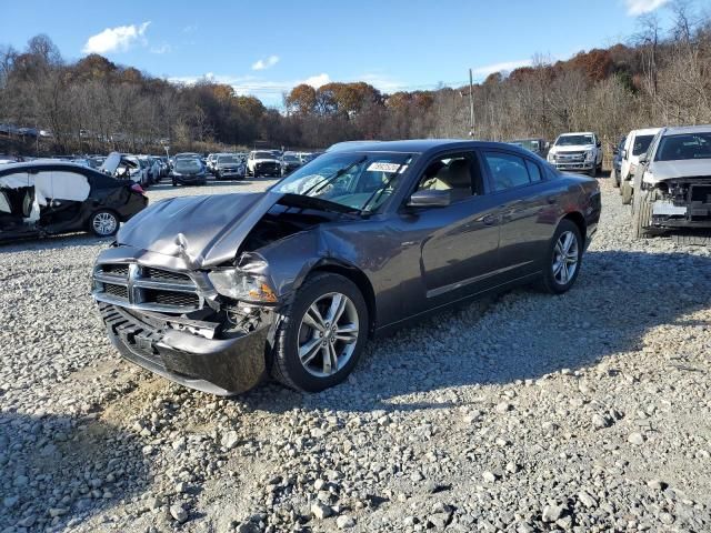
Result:
[[[351,359],[358,331],[358,310],[350,298],[339,292],[319,296],[301,318],[301,365],[317,378],[336,374]]]

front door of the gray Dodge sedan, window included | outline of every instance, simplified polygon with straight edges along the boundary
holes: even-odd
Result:
[[[437,167],[441,169],[433,170]],[[480,292],[492,282],[491,276],[498,270],[498,217],[495,207],[485,194],[475,153],[440,154],[424,168],[411,192],[450,187],[453,199],[444,207],[405,205],[399,213],[402,247],[417,247],[420,269],[417,289],[420,298],[417,304],[415,299],[408,302],[405,314]],[[454,177],[457,173],[459,178]],[[405,288],[405,292],[414,295],[414,286]]]

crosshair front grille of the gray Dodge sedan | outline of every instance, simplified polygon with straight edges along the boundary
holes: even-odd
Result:
[[[96,268],[93,296],[146,311],[188,313],[202,308],[201,298],[190,275],[136,263],[106,263]]]

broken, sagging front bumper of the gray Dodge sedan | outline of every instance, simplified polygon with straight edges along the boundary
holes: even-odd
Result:
[[[170,326],[157,326],[127,310],[99,302],[111,343],[128,361],[168,380],[202,392],[232,395],[267,376],[270,322],[232,339],[207,339]]]

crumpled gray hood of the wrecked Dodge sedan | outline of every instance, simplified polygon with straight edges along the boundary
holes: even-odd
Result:
[[[119,244],[181,258],[191,269],[234,258],[254,224],[282,197],[234,193],[178,197],[153,203],[119,231]]]

